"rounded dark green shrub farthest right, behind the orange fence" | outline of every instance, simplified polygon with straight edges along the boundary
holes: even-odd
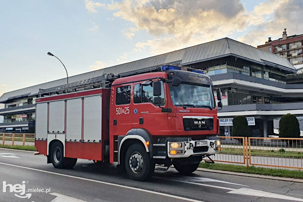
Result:
[[[284,114],[279,121],[279,137],[299,138],[300,126],[294,114]]]

